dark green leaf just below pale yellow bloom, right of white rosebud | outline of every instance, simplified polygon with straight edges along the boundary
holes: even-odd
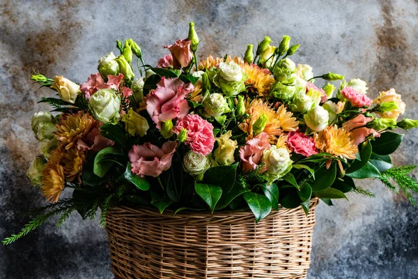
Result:
[[[228,193],[235,183],[237,167],[238,163],[229,166],[210,167],[205,172],[203,181],[220,186],[224,193]]]

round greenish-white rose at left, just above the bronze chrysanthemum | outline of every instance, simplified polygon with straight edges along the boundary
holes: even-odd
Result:
[[[121,96],[111,89],[100,89],[94,93],[88,104],[95,119],[102,123],[118,123],[121,110]]]

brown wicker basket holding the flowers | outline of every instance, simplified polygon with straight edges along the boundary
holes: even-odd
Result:
[[[117,207],[107,213],[116,278],[306,278],[315,207],[251,212],[158,213]]]

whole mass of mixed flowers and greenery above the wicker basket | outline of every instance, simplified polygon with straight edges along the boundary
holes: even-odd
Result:
[[[329,205],[348,192],[373,197],[353,179],[397,184],[415,204],[418,183],[408,173],[416,166],[393,167],[389,156],[403,137],[394,128],[418,126],[398,119],[401,96],[390,89],[373,100],[363,80],[314,76],[289,58],[300,46],[290,42],[283,36],[275,47],[266,36],[255,54],[247,45],[243,57],[198,61],[190,23],[188,37],[165,46],[170,54],[155,67],[129,39],[82,84],[32,75],[59,96],[40,101],[53,114],[33,116],[41,155],[27,172],[52,203],[3,243],[56,214],[61,225],[73,211],[94,218],[100,207],[104,225],[118,204],[174,214],[247,209],[258,222],[279,206],[307,213],[313,197]],[[67,189],[72,197],[60,199]]]

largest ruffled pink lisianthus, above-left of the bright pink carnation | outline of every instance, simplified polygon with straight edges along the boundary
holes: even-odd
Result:
[[[146,110],[151,119],[160,129],[160,123],[175,118],[181,118],[189,112],[187,94],[194,89],[193,84],[185,84],[178,78],[162,77],[157,83],[157,89],[148,93]]]

